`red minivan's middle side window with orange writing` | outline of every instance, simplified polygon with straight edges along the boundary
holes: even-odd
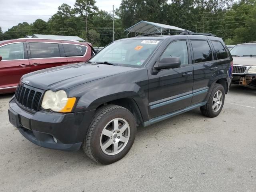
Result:
[[[29,43],[31,58],[60,57],[58,43]]]

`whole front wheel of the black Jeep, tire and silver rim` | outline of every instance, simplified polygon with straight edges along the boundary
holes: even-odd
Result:
[[[111,164],[128,153],[135,135],[132,113],[121,106],[107,105],[96,111],[82,147],[92,160]]]

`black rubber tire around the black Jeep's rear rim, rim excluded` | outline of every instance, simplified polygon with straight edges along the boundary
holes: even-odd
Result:
[[[216,94],[216,92],[218,91],[221,91],[222,92],[222,104],[219,108],[219,110],[217,112],[215,112],[212,108],[212,105],[213,105],[213,98],[214,98],[214,95]],[[220,114],[222,108],[223,108],[223,105],[224,105],[224,101],[225,101],[225,90],[224,90],[224,87],[221,85],[221,84],[218,84],[216,83],[212,89],[212,92],[210,94],[210,97],[208,98],[208,101],[207,103],[200,107],[200,110],[202,112],[202,114],[204,116],[207,116],[207,117],[216,117],[218,116],[218,114]]]

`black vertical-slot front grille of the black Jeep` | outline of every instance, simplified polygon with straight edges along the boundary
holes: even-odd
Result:
[[[15,100],[22,108],[38,111],[42,102],[42,93],[41,90],[19,84],[15,92]]]

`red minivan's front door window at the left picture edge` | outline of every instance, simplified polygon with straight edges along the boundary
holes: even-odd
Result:
[[[24,59],[24,44],[14,43],[0,47],[2,60]]]

